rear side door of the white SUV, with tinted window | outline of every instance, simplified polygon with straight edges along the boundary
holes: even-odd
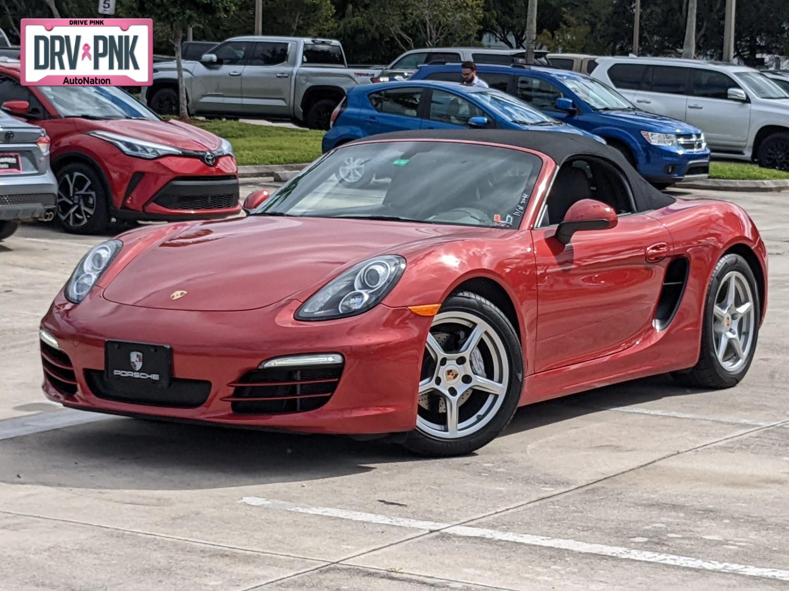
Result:
[[[649,113],[683,121],[690,87],[690,68],[650,65],[634,102]]]

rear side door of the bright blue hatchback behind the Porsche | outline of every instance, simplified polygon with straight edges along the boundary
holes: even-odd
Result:
[[[368,135],[419,129],[422,89],[391,88],[368,95],[370,109],[361,111],[362,125]]]

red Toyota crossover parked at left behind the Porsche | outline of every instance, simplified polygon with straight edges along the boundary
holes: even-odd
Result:
[[[226,139],[163,121],[115,87],[23,87],[19,77],[18,63],[0,65],[0,104],[47,130],[56,218],[67,232],[102,232],[113,217],[178,221],[241,210]]]

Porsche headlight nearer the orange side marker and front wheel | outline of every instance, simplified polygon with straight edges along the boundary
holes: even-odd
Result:
[[[391,291],[406,270],[406,259],[384,255],[360,262],[312,295],[298,320],[328,320],[366,312]]]

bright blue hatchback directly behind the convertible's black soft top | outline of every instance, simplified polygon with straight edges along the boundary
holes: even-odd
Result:
[[[599,137],[548,117],[493,88],[442,82],[384,82],[350,88],[323,136],[327,152],[353,139],[409,129],[536,129]]]

